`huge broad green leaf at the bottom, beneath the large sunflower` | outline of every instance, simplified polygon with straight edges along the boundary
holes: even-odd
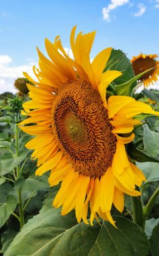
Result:
[[[114,219],[118,229],[109,222],[76,224],[73,213],[60,216],[60,210],[48,209],[23,226],[4,256],[146,256],[144,230],[126,218]]]

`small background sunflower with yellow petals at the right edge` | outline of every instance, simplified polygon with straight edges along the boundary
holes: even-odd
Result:
[[[144,87],[154,84],[158,80],[159,75],[159,61],[156,61],[158,55],[144,55],[140,54],[137,57],[132,57],[131,64],[134,69],[135,75],[138,75],[147,69],[154,68],[140,77]]]

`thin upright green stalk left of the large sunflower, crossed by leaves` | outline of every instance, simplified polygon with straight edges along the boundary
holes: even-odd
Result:
[[[19,156],[19,127],[17,126],[17,122],[19,121],[19,113],[15,113],[15,149],[16,149],[16,157]],[[20,168],[19,165],[16,168],[16,179],[20,178]],[[23,215],[23,205],[21,199],[21,189],[17,189],[18,195],[18,207],[19,207],[19,222],[20,227],[25,224],[24,222],[24,215]]]

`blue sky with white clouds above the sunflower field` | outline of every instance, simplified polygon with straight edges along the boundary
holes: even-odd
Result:
[[[91,57],[113,46],[127,57],[159,54],[159,0],[0,0],[0,93],[12,90],[13,79],[38,63],[36,46],[60,34],[69,48],[72,26],[97,30]]]

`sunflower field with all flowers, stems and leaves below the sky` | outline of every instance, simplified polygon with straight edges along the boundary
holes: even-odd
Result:
[[[158,56],[75,33],[0,95],[0,255],[158,256]]]

